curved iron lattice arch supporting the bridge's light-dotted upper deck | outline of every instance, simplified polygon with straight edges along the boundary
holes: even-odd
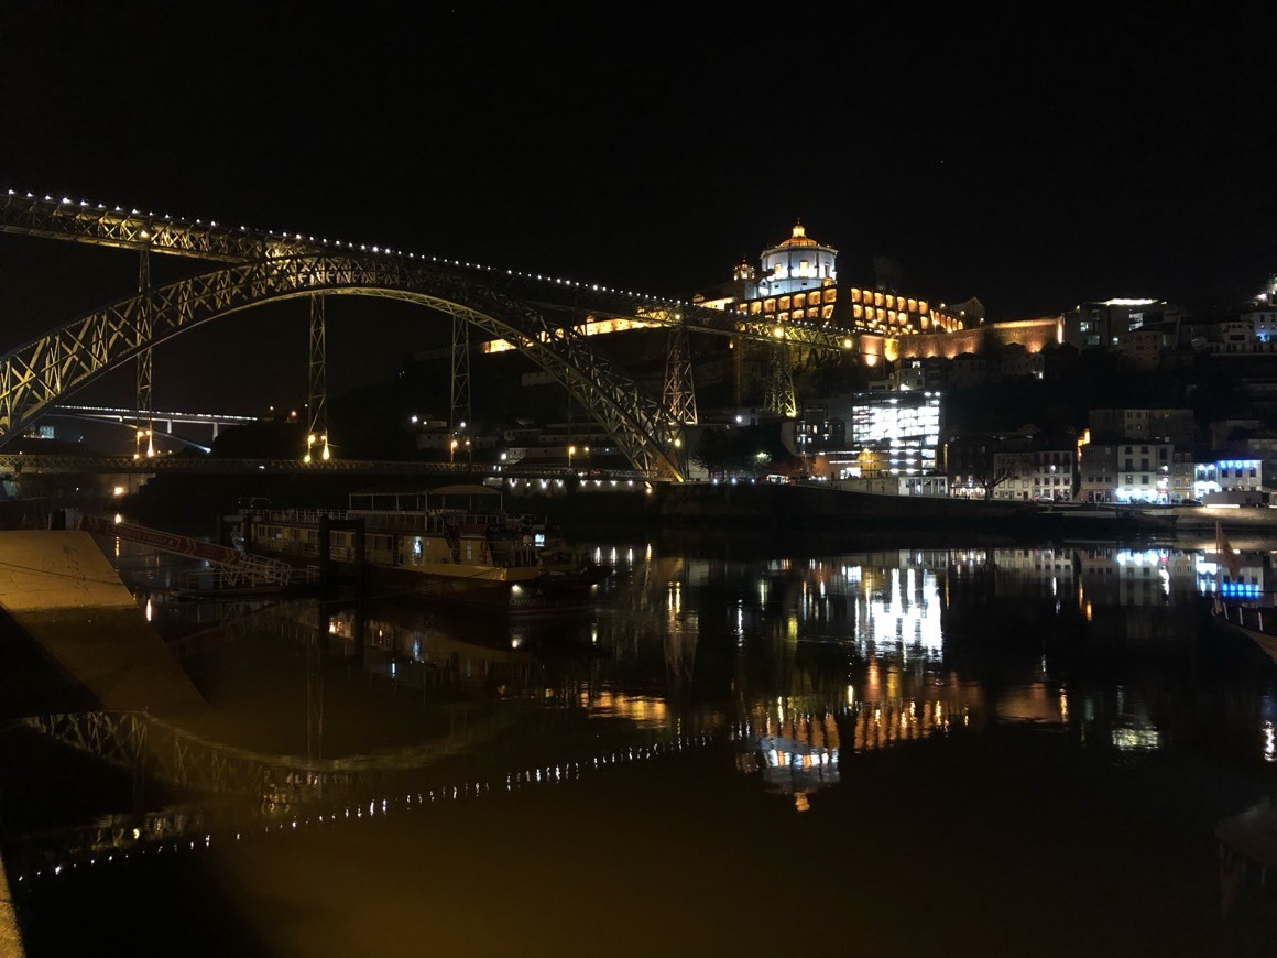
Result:
[[[679,424],[626,373],[490,281],[395,257],[301,254],[222,266],[121,299],[0,356],[0,446],[49,407],[188,330],[268,303],[315,295],[428,307],[515,345],[562,383],[645,476],[682,480]]]

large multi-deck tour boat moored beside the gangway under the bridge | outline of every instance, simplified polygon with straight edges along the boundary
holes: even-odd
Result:
[[[485,485],[365,489],[347,508],[250,508],[243,548],[358,579],[377,595],[536,614],[591,608],[612,567],[566,543],[544,522],[507,513]]]

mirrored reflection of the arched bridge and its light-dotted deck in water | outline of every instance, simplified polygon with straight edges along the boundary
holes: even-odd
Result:
[[[207,742],[144,713],[78,713],[26,720],[31,729],[107,764],[151,775],[203,795],[197,806],[112,815],[56,834],[6,835],[6,862],[18,881],[54,878],[78,865],[105,863],[116,855],[203,849],[244,833],[292,832],[299,826],[352,821],[409,811],[442,801],[480,798],[561,784],[635,761],[681,755],[715,740],[714,732],[674,738],[646,734],[641,741],[553,765],[510,772],[490,780],[425,784],[412,773],[457,754],[517,718],[507,713],[488,723],[397,752],[324,761],[261,756]],[[222,796],[231,801],[207,801]],[[238,801],[236,801],[238,800]],[[244,800],[248,800],[246,802]]]

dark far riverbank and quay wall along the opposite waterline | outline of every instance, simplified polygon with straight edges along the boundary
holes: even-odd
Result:
[[[119,503],[143,525],[171,529],[204,517],[220,528],[240,501],[277,507],[345,510],[349,494],[370,485],[435,488],[441,480],[369,482],[366,476],[275,478],[156,476]],[[510,512],[545,516],[589,538],[619,533],[704,534],[748,540],[815,536],[835,542],[894,531],[988,542],[1077,539],[1170,539],[1213,542],[1220,522],[1231,536],[1257,543],[1277,538],[1277,510],[1089,506],[1009,499],[985,502],[931,496],[884,496],[827,484],[682,483],[653,484],[580,479],[504,487]],[[577,536],[580,538],[580,536]],[[1236,543],[1235,543],[1236,544]]]

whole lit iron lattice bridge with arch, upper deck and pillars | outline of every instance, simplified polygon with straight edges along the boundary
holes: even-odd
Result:
[[[286,299],[310,301],[310,429],[327,450],[324,299],[379,296],[415,303],[452,319],[453,422],[469,409],[470,332],[513,344],[578,401],[647,479],[674,479],[692,390],[690,331],[829,351],[854,350],[858,335],[826,323],[771,321],[582,284],[462,267],[398,252],[176,222],[54,197],[0,195],[0,230],[139,253],[134,294],[75,318],[0,356],[0,445],[102,374],[137,360],[138,409],[151,410],[151,347],[195,326]],[[212,268],[165,286],[151,284],[149,254],[189,257]],[[582,327],[627,319],[672,332],[665,395],[645,396],[591,350]],[[682,413],[679,413],[682,410]],[[149,413],[148,413],[149,418]],[[461,419],[465,416],[461,415]]]

